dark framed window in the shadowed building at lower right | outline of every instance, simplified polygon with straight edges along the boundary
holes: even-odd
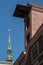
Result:
[[[31,48],[31,61],[33,61],[39,54],[39,45],[36,42]]]

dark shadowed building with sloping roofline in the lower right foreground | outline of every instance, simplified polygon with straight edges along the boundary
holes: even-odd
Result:
[[[43,65],[43,24],[29,42],[26,65]]]

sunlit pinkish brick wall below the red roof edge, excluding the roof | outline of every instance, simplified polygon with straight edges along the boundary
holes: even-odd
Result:
[[[43,13],[36,10],[31,10],[31,28],[32,28],[32,37],[40,27],[40,25],[43,23]]]

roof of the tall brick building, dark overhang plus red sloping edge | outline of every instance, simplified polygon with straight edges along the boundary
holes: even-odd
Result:
[[[43,6],[27,3],[27,6],[17,4],[13,16],[25,18],[29,14],[30,9],[34,7],[36,10],[43,12]]]

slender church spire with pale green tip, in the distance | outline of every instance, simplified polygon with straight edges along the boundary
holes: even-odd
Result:
[[[8,39],[8,49],[7,49],[6,61],[12,62],[12,49],[11,49],[11,41],[10,41],[10,29],[8,31],[9,31],[9,39]]]

